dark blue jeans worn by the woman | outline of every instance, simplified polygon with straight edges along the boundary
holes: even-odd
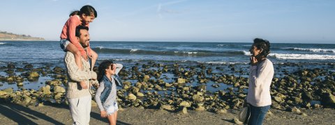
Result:
[[[251,108],[251,116],[248,124],[261,125],[263,123],[265,115],[267,115],[267,111],[269,110],[270,106],[255,107],[250,105],[250,108]]]

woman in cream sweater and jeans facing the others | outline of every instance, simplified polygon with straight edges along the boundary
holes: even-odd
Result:
[[[251,67],[246,102],[251,106],[251,117],[248,124],[262,124],[271,106],[270,85],[274,77],[274,66],[267,59],[270,43],[267,40],[255,38],[249,51]]]

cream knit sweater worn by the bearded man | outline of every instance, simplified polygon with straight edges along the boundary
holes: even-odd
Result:
[[[90,87],[90,82],[97,83],[98,81],[90,81],[96,79],[96,72],[90,70],[90,63],[82,58],[83,70],[79,69],[75,64],[75,56],[71,52],[65,53],[64,63],[68,73],[68,85],[66,85],[66,97],[73,99],[78,97],[86,97],[91,94],[91,88],[82,89],[78,81],[85,81]]]

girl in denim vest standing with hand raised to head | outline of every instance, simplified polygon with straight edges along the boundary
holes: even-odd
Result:
[[[101,117],[107,117],[110,124],[117,124],[117,87],[114,75],[117,75],[123,65],[114,64],[111,60],[103,61],[98,67],[98,82],[96,103],[101,110]]]

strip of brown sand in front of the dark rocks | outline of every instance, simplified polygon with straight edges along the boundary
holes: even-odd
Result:
[[[22,106],[15,103],[0,103],[1,124],[72,124],[70,111],[65,105]],[[306,115],[285,110],[271,109],[265,124],[335,124],[335,109],[301,109]],[[188,110],[187,114],[171,113],[168,110],[123,108],[119,110],[117,124],[234,124],[238,110],[228,113]],[[100,117],[97,106],[92,106],[90,124],[107,124]]]

